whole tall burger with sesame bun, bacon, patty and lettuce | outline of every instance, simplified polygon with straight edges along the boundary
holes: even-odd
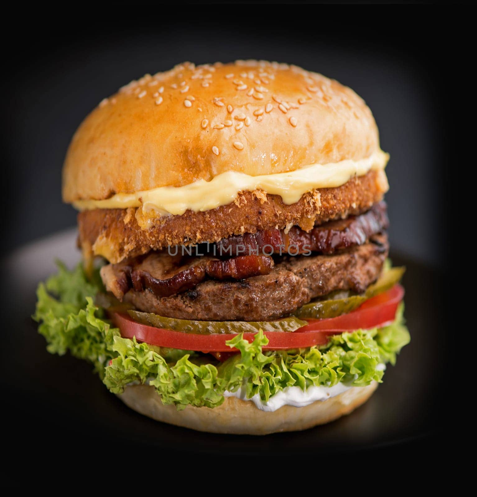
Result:
[[[196,430],[351,413],[409,341],[387,161],[365,102],[296,66],[184,63],[123,86],[65,159],[83,260],[38,287],[48,351]]]

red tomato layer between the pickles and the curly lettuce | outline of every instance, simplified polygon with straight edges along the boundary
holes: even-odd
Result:
[[[355,311],[337,318],[307,320],[308,325],[293,332],[269,331],[265,335],[269,339],[263,350],[324,345],[328,335],[370,328],[380,328],[392,323],[396,316],[397,306],[404,296],[404,289],[394,285],[390,290],[367,300]],[[199,335],[181,331],[165,330],[143,325],[134,321],[128,314],[113,312],[110,314],[114,325],[124,338],[136,337],[136,340],[160,347],[197,350],[200,352],[233,352],[226,341],[236,334]],[[255,333],[244,333],[244,338],[253,341]],[[215,354],[220,355],[220,354]]]

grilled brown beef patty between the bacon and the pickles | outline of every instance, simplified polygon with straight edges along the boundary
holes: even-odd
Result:
[[[192,290],[158,297],[129,290],[123,300],[137,309],[178,319],[270,321],[334,290],[363,292],[381,273],[387,236],[333,255],[281,257],[269,274],[240,281],[208,280]]]

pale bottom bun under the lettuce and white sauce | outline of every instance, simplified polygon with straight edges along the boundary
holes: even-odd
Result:
[[[236,397],[226,397],[213,409],[187,406],[178,411],[174,405],[164,405],[154,387],[148,385],[127,386],[118,397],[131,409],[157,421],[210,433],[267,435],[305,430],[350,414],[371,397],[377,386],[373,382],[367,387],[352,387],[325,401],[305,407],[283,406],[273,412],[261,411],[253,402]]]

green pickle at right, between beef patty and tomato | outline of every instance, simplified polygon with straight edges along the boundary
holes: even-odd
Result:
[[[405,267],[392,267],[384,270],[379,279],[370,285],[363,295],[351,295],[338,299],[336,295],[332,295],[327,300],[317,300],[305,304],[297,309],[293,315],[304,319],[324,319],[347,314],[357,309],[365,300],[376,297],[376,295],[393,287],[400,281],[405,270]]]

